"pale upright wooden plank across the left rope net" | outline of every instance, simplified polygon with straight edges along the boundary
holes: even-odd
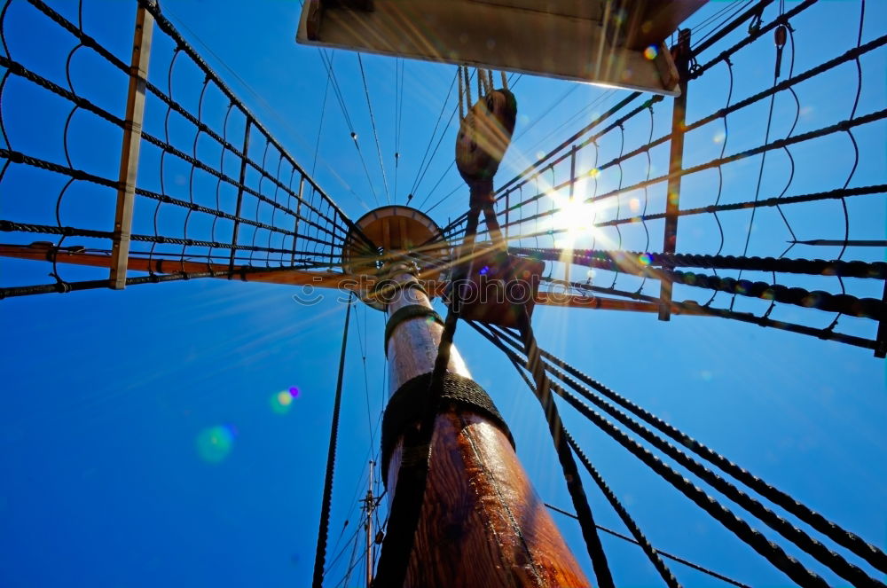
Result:
[[[126,287],[127,259],[130,256],[132,209],[136,200],[138,153],[142,143],[142,122],[145,120],[145,81],[151,57],[154,17],[139,4],[136,30],[132,40],[130,89],[126,100],[126,126],[120,154],[117,208],[114,212],[114,243],[111,246],[109,286],[115,290]]]

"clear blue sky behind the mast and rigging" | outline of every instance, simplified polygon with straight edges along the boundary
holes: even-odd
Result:
[[[59,4],[57,10],[68,18],[75,18],[74,3],[54,4]],[[134,3],[87,0],[84,4],[86,30],[125,57]],[[765,21],[775,16],[778,4],[767,9]],[[787,3],[789,7],[795,4]],[[352,218],[374,206],[372,190],[332,92],[326,108],[322,106],[326,72],[318,51],[294,43],[298,3],[269,0],[245,8],[243,3],[228,0],[168,0],[161,5],[185,38],[308,169],[323,112],[315,173],[318,183]],[[723,6],[711,3],[694,20],[702,22]],[[813,67],[855,44],[859,9],[855,1],[823,2],[798,18],[795,71]],[[882,2],[870,1],[866,10],[863,43],[883,35],[883,23],[887,22]],[[46,22],[27,3],[13,2],[5,29],[10,52],[18,59],[33,59],[38,71],[53,74],[52,79],[64,84],[71,37]],[[159,33],[157,36],[150,76],[165,86],[169,40]],[[112,83],[119,81],[119,76],[105,76],[98,60],[88,54],[81,50],[75,57],[75,87],[119,112],[125,88]],[[709,57],[714,54],[712,51]],[[767,35],[737,56],[734,101],[769,86],[773,54]],[[373,188],[383,202],[381,171],[357,58],[344,51],[334,55],[338,81],[348,100]],[[395,61],[365,56],[364,65],[389,187],[393,188]],[[858,115],[887,105],[885,51],[869,54],[862,66]],[[421,155],[426,152],[455,73],[453,67],[418,62],[407,62],[404,72],[404,122],[394,194],[399,203],[418,181]],[[178,75],[188,79],[187,70]],[[726,104],[726,81],[726,67],[720,66],[691,85],[689,120]],[[193,98],[185,86],[185,82],[179,86],[188,97],[185,99]],[[10,82],[4,92],[4,122],[12,146],[64,162],[59,137],[67,109],[37,92],[27,93],[24,87],[23,82]],[[572,90],[574,87],[569,82],[530,76],[514,83],[520,114],[515,142],[498,183],[534,160],[537,153],[569,137],[595,111],[601,112],[623,96],[588,85]],[[801,108],[796,134],[843,120],[850,114],[855,95],[855,65],[836,68],[800,84],[797,90]],[[601,96],[593,108],[583,111]],[[442,125],[453,105],[451,98]],[[763,143],[767,106],[764,101],[731,117],[727,154]],[[667,103],[656,106],[654,138],[667,131],[668,114]],[[794,101],[781,95],[774,104],[771,139],[785,136],[794,115]],[[75,162],[105,169],[114,176],[116,155],[106,145],[113,145],[119,137],[92,134],[89,127],[76,124],[72,130]],[[626,149],[646,142],[649,130],[648,119],[643,117],[627,124]],[[687,161],[698,163],[718,156],[722,133],[719,122],[695,131],[687,138]],[[423,207],[428,208],[459,187],[454,171],[444,174],[451,162],[454,134],[454,125],[450,125],[428,173],[413,191],[418,200],[414,204],[429,196]],[[861,157],[851,185],[884,183],[884,123],[867,125],[856,137]],[[845,135],[838,135],[798,147],[794,152],[797,169],[787,194],[843,185],[852,168],[850,145]],[[600,148],[600,161],[606,161],[607,153],[610,157],[618,153],[618,135],[602,141]],[[586,157],[592,159],[583,159]],[[667,161],[663,158],[667,158],[667,148],[653,153],[654,175],[658,175],[655,169],[663,173],[663,161]],[[580,161],[589,169],[594,165],[591,154],[581,156]],[[646,163],[643,158],[640,164],[626,165],[624,182],[642,179]],[[727,166],[722,201],[752,200],[760,164],[758,157]],[[788,180],[786,170],[783,153],[768,155],[762,198],[781,192]],[[143,166],[142,174],[140,181],[157,180],[155,167]],[[441,176],[443,180],[432,190]],[[717,174],[700,176],[687,180],[682,206],[713,200]],[[601,174],[599,181],[598,193],[605,192],[618,184],[619,176],[611,171]],[[59,188],[58,178],[12,170],[0,183],[0,217],[54,223]],[[583,189],[591,195],[593,187]],[[640,194],[635,197],[642,198]],[[648,198],[651,211],[662,202],[662,194],[653,190]],[[623,215],[632,207],[630,200],[626,196],[621,202]],[[79,189],[71,202],[63,210],[65,223],[110,226],[114,200],[106,192]],[[884,239],[887,210],[883,196],[858,197],[848,205],[852,238]],[[550,201],[545,200],[543,206],[551,206]],[[467,193],[459,189],[435,208],[432,216],[445,224],[448,217],[458,216],[465,208]],[[600,214],[612,215],[613,211]],[[749,216],[732,214],[736,216],[722,217],[724,252],[739,254]],[[838,202],[791,209],[789,215],[801,239],[843,236],[844,217]],[[146,222],[145,217],[137,219],[139,222]],[[659,250],[661,224],[650,223],[649,229],[649,247],[645,247],[640,227],[624,230],[623,247]],[[23,242],[34,240],[27,237]],[[619,238],[615,232],[594,237],[598,245]],[[4,233],[4,240],[12,239]],[[583,239],[582,244],[591,236]],[[779,255],[787,247],[786,239],[777,213],[761,213],[752,231],[750,255]],[[679,250],[714,253],[718,243],[718,230],[710,217],[681,221]],[[77,239],[66,242],[75,244]],[[539,243],[542,247],[551,244]],[[837,255],[837,247],[796,247],[791,255],[830,257]],[[884,252],[849,249],[844,258],[884,259]],[[51,281],[46,277],[48,271],[43,263],[0,259],[3,286],[46,283]],[[68,279],[95,277],[87,270],[63,271]],[[600,273],[595,281],[608,286],[613,277]],[[638,287],[624,277],[619,279],[624,281],[617,286]],[[848,291],[880,297],[881,284],[860,282],[848,284]],[[793,284],[839,291],[834,278],[799,279]],[[703,291],[687,288],[676,292],[679,298],[706,300]],[[310,585],[345,308],[334,296],[306,308],[292,300],[293,294],[287,286],[198,279],[131,286],[124,292],[93,290],[0,303],[4,333],[0,584]],[[729,299],[722,296],[718,302],[728,304]],[[737,308],[763,310],[745,301],[737,301]],[[826,326],[832,319],[816,310],[781,307],[773,316],[817,326]],[[677,317],[662,323],[652,316],[631,313],[540,308],[534,322],[544,348],[861,537],[887,547],[883,506],[887,496],[883,468],[887,459],[885,368],[883,360],[872,357],[870,351],[715,318]],[[350,556],[348,540],[357,526],[357,498],[365,492],[365,465],[379,441],[375,425],[387,394],[382,326],[381,313],[363,306],[355,308],[328,561],[343,546],[345,553],[327,578],[331,586],[343,578],[348,567],[345,562]],[[874,335],[871,325],[854,319],[842,318],[839,328]],[[506,359],[483,343],[467,327],[459,329],[459,349],[514,431],[519,456],[538,493],[554,505],[569,508],[538,404]],[[275,404],[279,391],[290,387],[298,387],[299,396],[287,407]],[[563,412],[570,430],[653,545],[747,584],[790,585],[788,578],[616,443],[569,409]],[[213,438],[216,445],[208,449],[207,442]],[[623,530],[592,482],[586,482],[586,490],[600,524]],[[738,507],[735,510],[742,514]],[[554,516],[590,573],[575,521]],[[346,520],[349,525],[336,546]],[[775,535],[762,526],[757,528],[768,537]],[[603,542],[619,586],[661,585],[637,547],[612,537],[604,537]],[[830,582],[846,585],[805,556],[798,556]],[[672,569],[689,587],[722,585],[679,564]],[[358,572],[341,585],[361,582]]]

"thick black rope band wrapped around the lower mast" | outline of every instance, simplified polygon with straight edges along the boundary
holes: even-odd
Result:
[[[409,308],[409,307],[405,307]],[[432,372],[407,380],[391,396],[382,418],[382,479],[388,484],[388,464],[391,452],[394,451],[397,439],[413,422],[420,420],[428,412]],[[500,431],[508,437],[514,447],[514,437],[506,425],[505,419],[499,414],[496,404],[489,395],[475,382],[455,373],[447,373],[443,379],[441,406],[455,404],[461,409],[477,412],[490,419]],[[401,467],[405,462],[401,464]]]

